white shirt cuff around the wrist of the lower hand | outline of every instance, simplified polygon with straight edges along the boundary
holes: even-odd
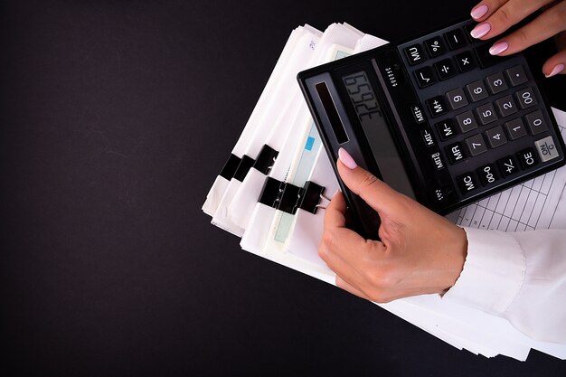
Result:
[[[464,230],[467,233],[464,269],[443,300],[501,315],[523,285],[524,252],[514,237],[503,231]]]

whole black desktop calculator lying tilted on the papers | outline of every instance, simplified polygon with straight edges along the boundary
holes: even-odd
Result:
[[[344,147],[440,214],[564,165],[560,130],[524,54],[490,55],[493,41],[469,35],[475,24],[300,72],[330,158]],[[377,213],[340,185],[355,230],[377,239]]]

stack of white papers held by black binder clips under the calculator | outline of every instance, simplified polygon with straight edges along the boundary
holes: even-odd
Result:
[[[338,184],[325,154],[296,76],[299,71],[378,47],[385,41],[363,34],[348,24],[332,24],[324,33],[304,25],[295,29],[256,107],[231,152],[240,162],[231,179],[219,175],[203,211],[212,223],[241,237],[241,248],[291,269],[335,284],[335,274],[318,258],[324,210],[297,209],[294,214],[259,203],[269,182],[304,187],[323,186],[332,195]],[[566,113],[555,110],[560,125]],[[274,120],[275,119],[275,120]],[[562,135],[563,130],[562,129]],[[266,158],[267,156],[267,158]],[[566,225],[566,169],[554,171],[499,193],[448,216],[461,225],[517,231],[563,228]],[[530,195],[536,191],[536,195]],[[325,204],[321,195],[321,206]],[[512,200],[510,200],[510,198]],[[509,206],[506,203],[519,203]],[[562,211],[557,209],[562,208]],[[534,348],[566,358],[566,345],[533,341],[505,319],[474,308],[440,300],[438,295],[410,297],[379,305],[459,349],[491,357],[505,354],[525,360]]]

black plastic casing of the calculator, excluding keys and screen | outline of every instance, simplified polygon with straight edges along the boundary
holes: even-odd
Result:
[[[548,101],[544,97],[540,86],[536,83],[538,78],[533,76],[524,54],[517,53],[506,58],[487,55],[487,49],[493,44],[493,41],[482,42],[473,40],[468,32],[474,24],[471,20],[460,21],[457,24],[441,28],[434,33],[426,33],[421,37],[411,38],[404,42],[389,43],[373,50],[360,52],[338,61],[332,61],[300,72],[297,75],[297,80],[307,100],[308,108],[313,115],[325,150],[331,160],[336,161],[339,148],[344,147],[354,157],[357,165],[383,179],[385,183],[391,184],[388,182],[388,179],[384,179],[382,174],[383,165],[387,164],[382,164],[380,168],[373,153],[372,144],[378,141],[376,141],[376,137],[372,138],[366,135],[361,124],[361,118],[358,117],[359,113],[356,113],[358,108],[354,110],[354,102],[350,100],[350,94],[345,89],[345,81],[343,81],[344,78],[353,80],[351,77],[356,72],[365,72],[380,105],[381,115],[384,120],[383,127],[388,128],[391,142],[394,144],[394,149],[401,160],[402,168],[397,170],[404,170],[403,176],[406,177],[410,186],[408,190],[405,188],[405,184],[400,184],[402,187],[394,188],[401,193],[408,194],[434,212],[442,215],[448,214],[467,204],[475,203],[510,186],[523,183],[537,175],[547,173],[564,165],[566,163],[564,159],[564,150],[566,148],[564,147],[560,130],[548,105]],[[450,51],[446,33],[457,29],[464,32],[466,44],[454,51]],[[447,52],[439,57],[431,58],[428,52],[425,51],[424,42],[429,41],[432,37],[436,38],[439,36],[446,43]],[[409,62],[410,56],[404,51],[409,46],[415,45],[415,43],[420,44],[421,53],[426,58],[426,61],[418,64],[413,62],[411,66]],[[459,52],[466,51],[473,53],[472,56],[477,65],[474,70],[462,73],[458,70],[458,67],[455,67],[458,74],[448,80],[439,80],[439,71],[434,71],[438,82],[424,88],[424,90],[420,89],[415,72],[417,68],[426,65],[433,66],[434,63],[445,59],[454,60],[454,57]],[[490,59],[493,60],[489,61]],[[433,117],[431,110],[425,106],[424,99],[426,98],[432,99],[436,96],[444,96],[449,90],[464,88],[467,84],[476,80],[485,80],[486,77],[495,72],[505,73],[507,69],[517,65],[524,67],[527,82],[516,88],[512,88],[508,77],[506,77],[509,88],[503,93],[491,95],[487,99],[479,100],[475,103],[467,98],[469,103],[465,108],[462,108],[461,111],[451,110],[448,112],[447,117]],[[536,136],[533,136],[532,133],[527,133],[526,136],[516,140],[508,140],[509,142],[505,145],[488,148],[486,153],[473,157],[467,156],[457,164],[450,164],[447,157],[447,147],[454,143],[463,145],[464,140],[469,135],[474,134],[474,132],[460,133],[453,140],[443,141],[439,137],[439,131],[433,126],[443,118],[453,118],[463,111],[472,111],[475,118],[477,118],[478,115],[475,112],[477,107],[490,102],[494,103],[496,99],[502,99],[509,95],[515,96],[517,91],[524,88],[532,89],[532,94],[537,103],[533,108],[521,108],[517,103],[517,99],[514,98],[518,111],[513,116],[502,118],[501,114],[499,114],[498,120],[492,124],[482,125],[478,123],[479,127],[474,132],[483,135],[490,127],[498,125],[504,127],[506,122],[516,118],[522,118],[523,123],[525,123],[524,117],[534,110],[542,111],[543,122],[546,122],[548,130]],[[418,93],[420,93],[420,96]],[[447,104],[447,106],[449,107],[450,105]],[[422,121],[422,118],[425,120]],[[528,130],[527,126],[524,125],[524,128]],[[424,134],[423,129],[427,130]],[[431,133],[431,137],[434,137],[436,141],[433,146],[427,145],[426,140],[423,138],[423,135],[427,133]],[[506,135],[509,138],[509,135]],[[521,166],[518,166],[518,172],[506,177],[503,176],[502,171],[498,170],[499,168],[495,165],[496,160],[504,159],[506,156],[514,156],[515,163],[518,165],[520,162],[516,161],[517,152],[524,151],[524,148],[534,149],[534,141],[542,140],[544,137],[552,137],[554,142],[554,149],[552,150],[557,153],[557,156],[552,158],[552,160],[542,162],[539,157],[537,164],[533,167],[528,166],[522,169],[520,168]],[[388,137],[385,138],[389,140]],[[419,142],[420,139],[422,139],[422,142]],[[485,139],[486,136],[484,136],[484,143],[486,143]],[[464,145],[463,147],[465,148],[466,146]],[[438,161],[431,157],[437,152],[445,164],[440,169],[438,169]],[[536,153],[536,151],[534,152]],[[379,152],[376,153],[379,154]],[[535,161],[537,160],[536,157]],[[389,157],[383,159],[383,161],[392,160]],[[473,163],[471,162],[472,160]],[[354,212],[354,230],[366,238],[379,239],[379,215],[345,186],[342,180],[339,179],[336,165],[332,165],[348,207]],[[495,166],[494,173],[498,175],[499,179],[493,184],[483,185],[477,179],[478,172],[476,172],[476,169],[478,166],[485,165]],[[478,186],[469,193],[462,191],[456,183],[456,177],[462,177],[467,172],[470,172],[471,175],[476,175],[476,184]],[[397,177],[394,178],[395,180],[397,179]],[[404,182],[405,178],[402,178],[401,181]]]

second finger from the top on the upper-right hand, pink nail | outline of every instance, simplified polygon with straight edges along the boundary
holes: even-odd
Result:
[[[474,38],[486,40],[504,33],[514,24],[524,20],[530,14],[541,9],[543,5],[552,3],[552,0],[514,0],[505,2],[493,14],[486,17],[481,24],[477,24],[471,35]]]

